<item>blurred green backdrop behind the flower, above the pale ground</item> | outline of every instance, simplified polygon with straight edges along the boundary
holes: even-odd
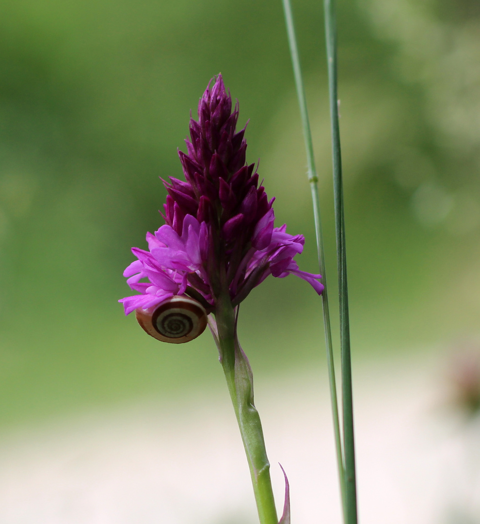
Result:
[[[341,133],[355,359],[478,335],[477,0],[340,0]],[[320,2],[294,2],[335,311]],[[125,318],[131,246],[162,220],[189,111],[221,72],[250,120],[277,225],[306,236],[306,160],[280,0],[0,4],[0,425],[222,384],[209,333],[163,345]],[[334,317],[336,315],[334,314]],[[323,363],[320,301],[270,279],[242,304],[256,376]]]

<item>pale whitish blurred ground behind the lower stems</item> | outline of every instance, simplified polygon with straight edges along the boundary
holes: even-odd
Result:
[[[438,353],[424,352],[354,367],[360,522],[468,522],[448,520],[448,513],[459,504],[478,510],[478,476],[463,489],[471,480],[466,427],[446,410],[444,365]],[[316,369],[256,388],[277,504],[281,462],[294,524],[340,522],[325,379]],[[478,456],[469,461],[478,465]],[[467,504],[466,493],[473,496]],[[254,523],[226,388],[171,403],[145,399],[4,436],[0,521]]]

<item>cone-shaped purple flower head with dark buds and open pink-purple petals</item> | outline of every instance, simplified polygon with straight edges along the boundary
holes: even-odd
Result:
[[[274,227],[268,200],[254,164],[246,165],[245,127],[238,133],[238,103],[233,108],[221,75],[207,87],[190,119],[187,154],[179,152],[185,181],[163,181],[168,192],[165,225],[147,233],[148,251],[132,248],[137,260],[124,272],[133,291],[121,299],[125,314],[154,308],[173,295],[188,294],[215,311],[220,293],[233,305],[269,275],[297,275],[321,293],[320,275],[298,269],[303,235]],[[147,279],[147,281],[142,281]]]

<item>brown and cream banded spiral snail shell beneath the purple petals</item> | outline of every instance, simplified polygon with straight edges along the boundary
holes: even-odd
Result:
[[[207,326],[207,312],[189,297],[170,297],[151,309],[135,311],[140,326],[154,339],[182,344],[196,339]]]

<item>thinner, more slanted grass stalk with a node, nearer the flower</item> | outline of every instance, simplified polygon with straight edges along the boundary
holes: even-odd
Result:
[[[323,251],[323,235],[320,220],[320,202],[318,199],[318,176],[315,167],[314,147],[311,139],[310,123],[308,119],[307,102],[305,99],[305,89],[302,79],[302,70],[300,69],[300,59],[298,57],[297,41],[295,37],[295,28],[293,24],[292,7],[290,0],[282,0],[287,25],[288,45],[292,57],[293,71],[295,76],[295,85],[297,89],[298,104],[300,114],[302,115],[303,133],[305,139],[305,149],[307,151],[308,161],[308,181],[310,182],[312,202],[314,205],[315,234],[317,238],[317,253],[320,273],[322,275],[325,289],[322,292],[323,306],[323,326],[325,328],[325,345],[327,348],[327,366],[330,383],[330,398],[332,403],[333,431],[335,434],[335,444],[337,450],[337,465],[340,481],[340,493],[342,497],[342,506],[345,508],[345,472],[343,465],[342,443],[340,437],[340,422],[338,416],[337,386],[335,379],[335,369],[333,364],[332,333],[330,327],[330,310],[328,307],[328,286],[325,270],[325,253]],[[344,510],[345,511],[345,510]]]

